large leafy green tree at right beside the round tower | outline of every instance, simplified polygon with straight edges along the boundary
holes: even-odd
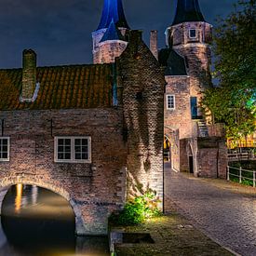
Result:
[[[218,20],[213,40],[217,88],[202,101],[215,122],[226,125],[229,138],[247,136],[256,124],[256,0],[238,1]]]

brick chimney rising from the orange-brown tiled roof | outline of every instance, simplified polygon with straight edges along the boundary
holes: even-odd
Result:
[[[36,84],[36,53],[33,49],[23,50],[21,101],[33,101]]]

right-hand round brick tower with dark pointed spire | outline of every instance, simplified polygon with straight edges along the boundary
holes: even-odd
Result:
[[[195,105],[194,117],[200,116],[202,92],[211,85],[209,65],[212,26],[206,22],[198,0],[177,0],[175,18],[166,30],[166,44],[181,54],[190,76],[191,104]]]

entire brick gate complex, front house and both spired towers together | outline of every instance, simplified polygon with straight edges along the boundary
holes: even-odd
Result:
[[[178,1],[166,36],[158,52],[152,31],[148,48],[122,1],[105,0],[93,64],[37,67],[29,49],[22,68],[0,70],[1,197],[45,187],[70,202],[77,234],[99,235],[128,197],[153,189],[163,201],[165,136],[173,168],[222,176],[222,140],[198,128],[211,26],[197,1]]]

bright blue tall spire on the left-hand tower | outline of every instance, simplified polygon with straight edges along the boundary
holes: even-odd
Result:
[[[112,20],[117,27],[129,29],[122,0],[104,0],[101,22],[97,30],[108,28]]]

